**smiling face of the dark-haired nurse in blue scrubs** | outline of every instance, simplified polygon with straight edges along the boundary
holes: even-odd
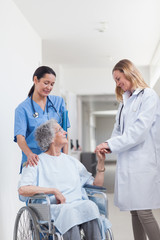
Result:
[[[41,97],[47,97],[53,89],[56,78],[53,74],[46,73],[42,78],[36,76],[33,79],[35,84],[34,91]]]

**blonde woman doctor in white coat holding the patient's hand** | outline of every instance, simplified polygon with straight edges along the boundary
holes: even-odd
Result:
[[[117,154],[115,205],[131,212],[134,239],[159,240],[152,209],[160,208],[160,100],[129,60],[112,74],[120,106],[111,138],[95,151]]]

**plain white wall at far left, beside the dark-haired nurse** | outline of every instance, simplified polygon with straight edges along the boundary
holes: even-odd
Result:
[[[0,1],[0,234],[13,238],[21,152],[13,142],[14,109],[26,98],[41,63],[41,39],[11,0]]]

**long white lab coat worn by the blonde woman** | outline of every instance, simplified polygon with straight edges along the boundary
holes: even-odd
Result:
[[[160,208],[160,100],[150,88],[123,95],[107,140],[117,153],[115,205],[120,210]]]

